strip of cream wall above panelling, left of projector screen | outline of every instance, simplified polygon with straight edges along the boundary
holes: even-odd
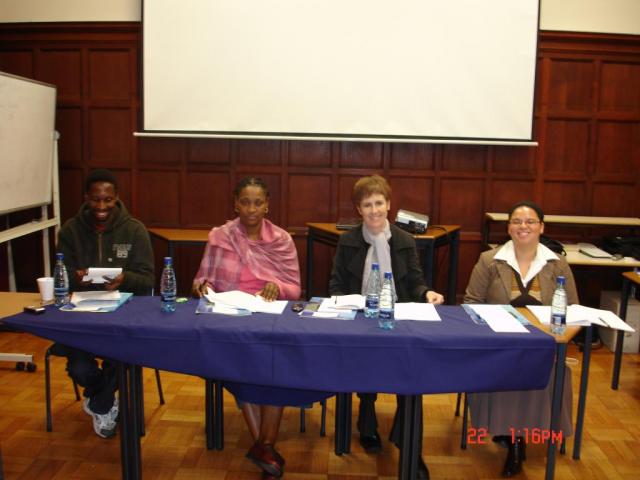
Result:
[[[0,0],[0,22],[139,22],[142,0]]]

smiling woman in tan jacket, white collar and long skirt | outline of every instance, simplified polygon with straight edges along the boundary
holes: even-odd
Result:
[[[567,304],[578,303],[573,274],[566,260],[540,243],[544,232],[544,213],[540,206],[530,201],[516,203],[509,212],[508,232],[511,240],[480,255],[471,273],[464,303],[515,307],[551,305],[559,276],[566,279]],[[552,391],[553,380],[550,380],[543,390],[469,395],[474,427],[491,433],[494,441],[508,446],[504,477],[522,471],[526,447],[522,435],[534,429],[548,432]],[[573,433],[571,404],[571,372],[567,369],[560,422],[562,438]],[[526,436],[528,441],[532,438]]]

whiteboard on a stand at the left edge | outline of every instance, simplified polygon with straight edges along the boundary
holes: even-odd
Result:
[[[0,214],[52,203],[56,88],[0,72]]]

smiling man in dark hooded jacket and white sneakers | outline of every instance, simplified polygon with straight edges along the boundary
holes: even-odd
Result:
[[[64,254],[70,290],[104,288],[135,295],[149,295],[155,276],[153,250],[145,226],[129,215],[118,198],[118,183],[108,170],[94,170],[85,181],[85,203],[68,220],[58,236]],[[82,278],[89,267],[122,268],[107,283],[92,285]],[[103,438],[115,435],[118,403],[115,398],[115,366],[95,355],[57,344],[54,352],[68,359],[69,376],[82,385],[83,408],[93,417],[93,427]]]

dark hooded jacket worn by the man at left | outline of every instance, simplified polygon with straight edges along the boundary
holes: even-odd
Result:
[[[117,201],[104,231],[95,228],[87,203],[68,220],[58,236],[58,252],[64,254],[71,291],[79,289],[75,272],[89,267],[122,268],[123,292],[149,295],[155,282],[153,250],[145,226]]]

